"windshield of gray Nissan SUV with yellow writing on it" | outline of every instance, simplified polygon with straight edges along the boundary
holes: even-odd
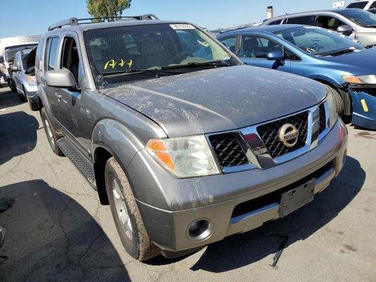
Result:
[[[85,32],[92,72],[99,87],[174,75],[238,61],[190,24],[111,27]]]

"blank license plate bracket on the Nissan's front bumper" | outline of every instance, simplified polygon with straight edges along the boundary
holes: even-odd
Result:
[[[279,216],[284,217],[296,209],[303,207],[305,204],[313,201],[315,196],[315,178],[293,188],[281,195],[281,202],[279,207]]]

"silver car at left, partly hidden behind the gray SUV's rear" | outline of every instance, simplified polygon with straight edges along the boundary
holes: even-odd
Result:
[[[35,49],[18,51],[14,56],[13,67],[10,68],[12,78],[20,99],[35,99],[37,82],[35,81]]]

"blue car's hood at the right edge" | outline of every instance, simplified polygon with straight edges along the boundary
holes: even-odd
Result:
[[[373,75],[376,73],[376,47],[341,54],[339,56],[322,57],[320,60],[336,63],[341,71],[349,71],[353,75]]]

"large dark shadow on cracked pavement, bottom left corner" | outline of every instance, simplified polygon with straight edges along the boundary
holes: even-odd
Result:
[[[0,188],[16,203],[0,214],[8,260],[1,281],[131,281],[107,235],[71,197],[43,180]]]

